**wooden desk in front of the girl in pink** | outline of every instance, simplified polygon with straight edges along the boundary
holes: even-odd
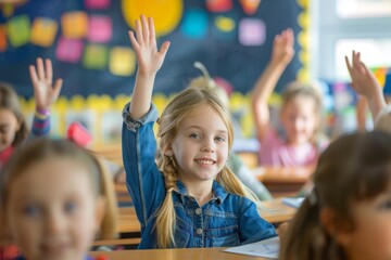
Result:
[[[256,179],[261,181],[274,197],[297,194],[314,171],[313,167],[258,167],[253,169]]]

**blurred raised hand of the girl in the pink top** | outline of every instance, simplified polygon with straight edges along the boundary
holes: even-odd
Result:
[[[294,55],[294,36],[292,29],[282,30],[276,35],[273,42],[270,63],[288,65]]]

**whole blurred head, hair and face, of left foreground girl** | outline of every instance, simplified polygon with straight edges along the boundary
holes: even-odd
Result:
[[[2,226],[28,260],[90,259],[86,253],[96,235],[116,233],[110,183],[87,150],[35,139],[16,148],[1,174]]]

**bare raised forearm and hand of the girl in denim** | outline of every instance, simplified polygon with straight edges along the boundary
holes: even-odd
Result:
[[[157,70],[162,67],[169,41],[165,41],[157,50],[152,17],[144,15],[136,21],[136,36],[129,31],[131,46],[137,56],[137,75],[129,113],[137,120],[144,116],[151,106],[153,83]]]

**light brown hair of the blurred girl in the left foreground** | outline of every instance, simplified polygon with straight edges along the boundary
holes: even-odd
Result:
[[[105,199],[104,214],[97,238],[116,237],[117,207],[111,177],[96,156],[67,140],[38,138],[16,148],[0,174],[0,207],[2,211],[7,208],[11,182],[31,165],[53,157],[71,158],[87,167],[92,180],[93,193]]]

